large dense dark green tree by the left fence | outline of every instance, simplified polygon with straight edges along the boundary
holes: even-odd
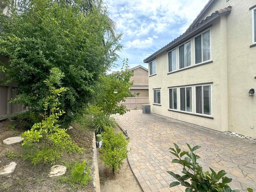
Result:
[[[63,86],[69,90],[60,96],[66,112],[60,120],[68,125],[91,102],[99,77],[117,60],[121,34],[107,35],[113,26],[101,0],[17,4],[9,16],[0,15],[0,54],[10,57],[10,64],[0,68],[6,82],[18,84],[15,102],[34,114],[44,113],[44,80],[50,69],[64,72]]]

